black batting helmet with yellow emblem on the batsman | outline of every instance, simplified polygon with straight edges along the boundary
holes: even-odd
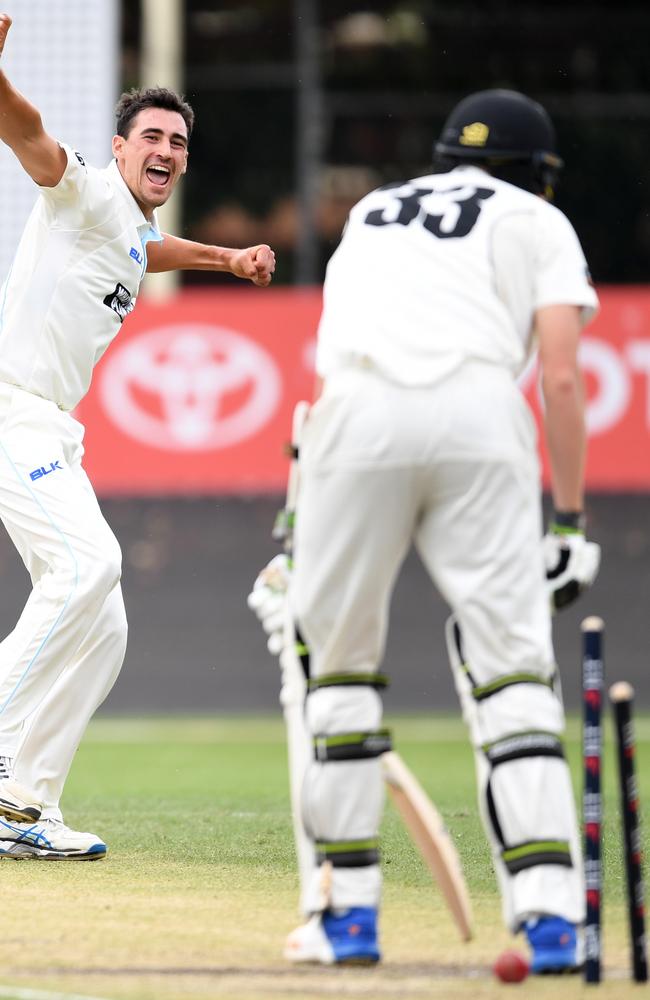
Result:
[[[439,164],[479,163],[550,199],[564,165],[555,148],[541,104],[516,90],[481,90],[456,105],[433,151]]]

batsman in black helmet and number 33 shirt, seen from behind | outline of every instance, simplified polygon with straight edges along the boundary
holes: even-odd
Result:
[[[273,635],[286,590],[309,650],[306,922],[285,955],[380,958],[381,660],[414,545],[452,610],[447,647],[504,921],[525,934],[533,973],[574,971],[584,892],[551,621],[599,565],[584,534],[578,364],[598,302],[578,237],[551,204],[563,164],[539,104],[470,95],[434,160],[429,175],[350,212],[325,279],[322,391],[300,443],[292,563],[275,564],[272,586],[263,572],[249,599]],[[535,425],[517,384],[535,353],[555,508],[546,536]]]

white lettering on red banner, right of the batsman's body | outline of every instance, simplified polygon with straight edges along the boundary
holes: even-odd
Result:
[[[604,434],[621,423],[632,399],[635,375],[645,376],[646,424],[650,430],[650,340],[629,340],[617,350],[605,340],[583,337],[580,342],[580,366],[593,377],[596,392],[587,403],[586,420],[590,435]],[[519,385],[526,393],[537,380],[533,362],[524,370]],[[540,409],[544,399],[539,386]]]

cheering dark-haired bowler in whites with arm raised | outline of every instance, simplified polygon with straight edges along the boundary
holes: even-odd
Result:
[[[1,14],[0,53],[10,27]],[[194,113],[182,97],[132,91],[116,117],[114,159],[92,167],[47,134],[0,69],[0,139],[38,195],[0,293],[0,517],[33,585],[0,643],[0,859],[106,854],[59,806],[127,635],[120,548],[71,411],[147,271],[230,271],[266,286],[275,268],[266,245],[232,250],[160,232],[156,209],[187,169]]]

